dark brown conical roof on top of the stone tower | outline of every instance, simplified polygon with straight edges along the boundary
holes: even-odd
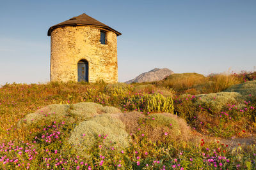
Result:
[[[103,24],[102,22],[99,22],[98,20],[95,20],[95,18],[92,18],[85,13],[82,15],[79,15],[77,17],[70,18],[69,20],[66,20],[64,22],[61,22],[60,24],[53,25],[49,28],[47,35],[51,36],[51,32],[58,28],[58,27],[66,27],[66,26],[95,26],[95,27],[102,27],[104,29],[108,29],[109,31],[113,31],[116,33],[116,36],[120,36],[121,33],[118,31],[115,31],[115,29],[112,29],[108,25]]]

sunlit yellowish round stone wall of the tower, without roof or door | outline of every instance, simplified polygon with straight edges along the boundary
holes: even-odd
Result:
[[[77,62],[89,64],[89,82],[116,83],[116,34],[106,31],[106,45],[100,44],[99,27],[60,27],[51,33],[51,81],[77,81]]]

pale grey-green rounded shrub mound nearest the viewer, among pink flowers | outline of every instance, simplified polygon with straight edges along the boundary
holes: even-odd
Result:
[[[106,139],[100,138],[101,136]],[[77,125],[71,132],[68,142],[86,156],[95,145],[101,147],[99,143],[102,141],[104,147],[120,149],[129,146],[129,140],[124,123],[115,114],[104,114]]]

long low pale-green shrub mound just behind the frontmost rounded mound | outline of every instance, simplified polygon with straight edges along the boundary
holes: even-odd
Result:
[[[35,113],[30,113],[18,122],[18,126],[36,124],[38,121],[58,121],[65,119],[69,122],[85,120],[102,113],[120,113],[118,108],[102,106],[97,103],[83,102],[76,104],[51,104]]]

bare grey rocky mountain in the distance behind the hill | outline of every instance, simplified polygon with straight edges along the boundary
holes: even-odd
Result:
[[[141,82],[150,82],[150,81],[160,81],[166,78],[166,76],[170,76],[170,74],[174,74],[170,69],[152,69],[146,73],[142,73],[136,78],[126,81],[125,83],[141,83]]]

